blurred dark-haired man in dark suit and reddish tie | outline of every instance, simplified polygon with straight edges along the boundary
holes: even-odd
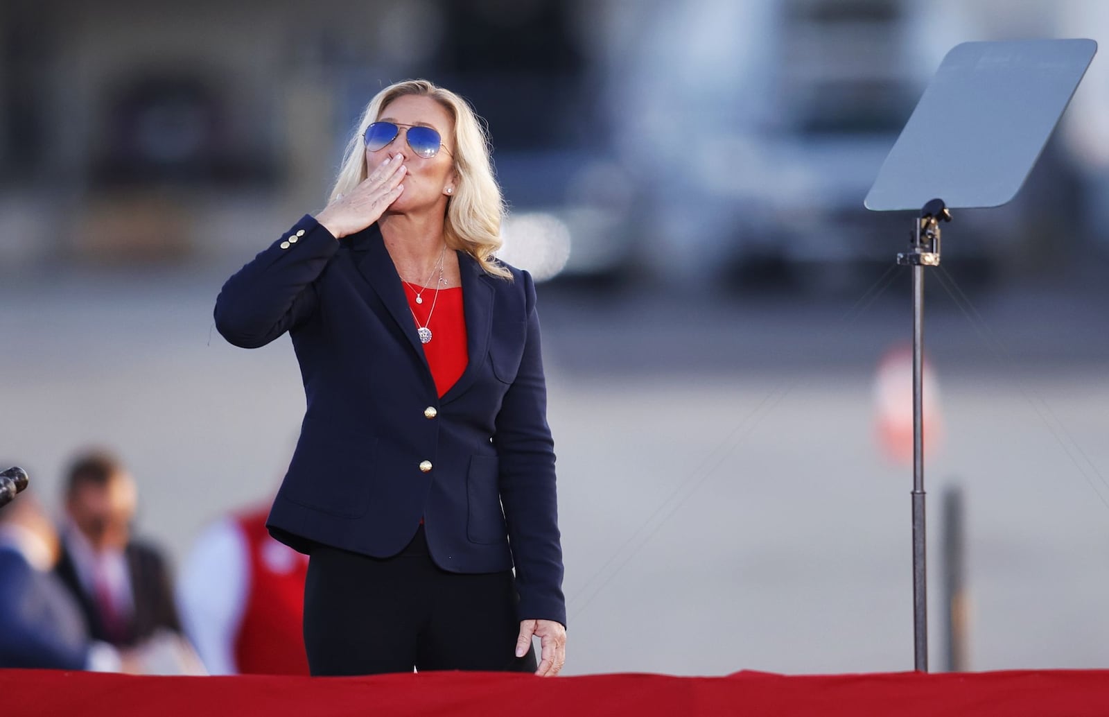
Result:
[[[131,538],[135,502],[134,481],[119,460],[104,452],[78,456],[65,484],[55,568],[93,638],[123,647],[161,630],[181,634],[165,561]]]

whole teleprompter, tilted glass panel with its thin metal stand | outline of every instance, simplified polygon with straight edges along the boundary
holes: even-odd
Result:
[[[948,208],[1000,206],[1013,200],[1097,49],[1097,42],[1082,38],[952,48],[863,201],[875,212],[919,212],[910,251],[899,254],[897,263],[913,270],[913,607],[916,668],[922,671],[928,669],[920,400],[924,267],[939,265],[939,222],[950,221]]]

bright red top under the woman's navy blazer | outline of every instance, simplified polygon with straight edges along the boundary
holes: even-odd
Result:
[[[405,296],[414,314],[416,326],[431,330],[431,341],[424,344],[424,355],[435,378],[435,388],[441,398],[455,382],[461,378],[469,362],[466,351],[466,314],[462,311],[462,287],[440,289],[436,297],[435,289],[425,289],[423,304],[416,303],[416,291],[405,283]],[[435,307],[433,311],[433,306]],[[428,323],[430,315],[430,323]]]

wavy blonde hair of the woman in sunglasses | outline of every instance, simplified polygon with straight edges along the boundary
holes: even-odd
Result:
[[[482,121],[469,103],[450,90],[427,80],[406,80],[385,88],[374,95],[362,113],[339,168],[330,201],[346,194],[366,179],[366,151],[363,134],[377,121],[390,102],[406,94],[429,97],[447,110],[455,121],[454,169],[458,175],[455,191],[447,199],[444,239],[447,246],[466,252],[494,276],[511,279],[512,274],[494,254],[501,246],[500,223],[505,216],[505,200],[492,174],[491,145]]]

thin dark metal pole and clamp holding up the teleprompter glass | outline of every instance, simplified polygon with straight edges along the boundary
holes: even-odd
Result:
[[[897,263],[913,270],[913,647],[914,665],[928,671],[928,590],[924,521],[924,267],[939,265],[939,222],[952,221],[943,200],[924,205],[908,252]]]

